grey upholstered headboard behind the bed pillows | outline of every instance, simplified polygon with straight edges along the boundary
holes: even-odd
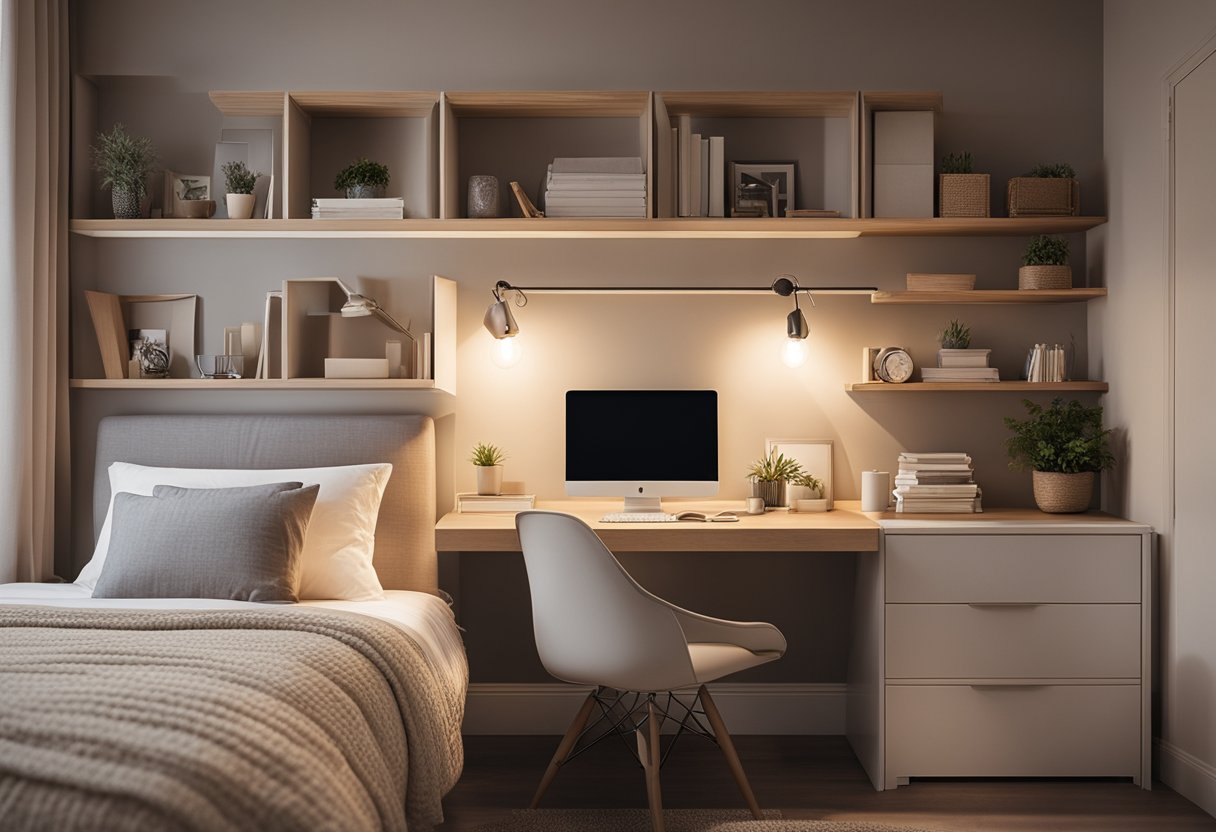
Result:
[[[376,572],[384,589],[438,589],[429,416],[108,416],[97,426],[95,538],[109,506],[111,462],[178,468],[392,462],[376,523]]]

